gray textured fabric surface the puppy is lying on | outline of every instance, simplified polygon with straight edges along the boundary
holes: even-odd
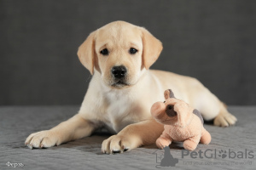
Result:
[[[156,155],[163,155],[154,144],[127,151],[124,154],[102,155],[101,144],[108,133],[96,133],[91,137],[43,150],[30,150],[24,141],[30,133],[54,127],[79,110],[78,106],[0,107],[0,169],[156,169]],[[205,125],[212,134],[209,145],[199,144],[195,151],[217,149],[226,152],[253,150],[253,159],[229,156],[220,158],[191,158],[182,156],[182,143],[171,144],[171,154],[178,159],[175,167],[161,169],[255,169],[256,168],[256,107],[230,107],[237,116],[235,127]],[[234,154],[233,154],[234,155]],[[231,157],[233,156],[230,155]],[[237,155],[237,154],[236,154]],[[223,156],[223,154],[221,155]],[[244,156],[245,157],[245,156]],[[7,162],[22,163],[24,167],[8,167]],[[233,162],[233,163],[231,163]],[[201,165],[202,163],[203,165]],[[227,165],[229,164],[230,165]],[[218,164],[218,165],[215,165]],[[241,165],[239,165],[241,164]],[[159,166],[158,166],[159,167]]]

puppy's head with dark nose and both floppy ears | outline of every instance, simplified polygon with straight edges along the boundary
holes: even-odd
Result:
[[[78,55],[90,74],[98,71],[107,86],[127,88],[153,65],[161,50],[161,42],[143,27],[115,21],[90,33]]]

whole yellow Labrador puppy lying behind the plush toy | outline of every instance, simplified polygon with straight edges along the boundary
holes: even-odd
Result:
[[[30,148],[48,148],[89,136],[100,127],[112,133],[102,152],[115,153],[153,144],[163,126],[150,115],[171,88],[177,99],[201,111],[206,120],[228,127],[236,122],[201,82],[172,72],[148,70],[158,59],[161,42],[146,29],[115,21],[90,33],[79,47],[81,63],[93,75],[79,113],[56,127],[27,137]]]

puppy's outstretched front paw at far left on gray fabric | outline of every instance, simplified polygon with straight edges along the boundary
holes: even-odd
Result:
[[[32,133],[26,138],[25,144],[30,149],[33,148],[49,148],[57,144],[55,133],[46,130],[38,133]]]

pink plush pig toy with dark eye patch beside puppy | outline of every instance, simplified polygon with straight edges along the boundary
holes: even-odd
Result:
[[[201,113],[183,100],[176,99],[172,90],[165,91],[164,102],[156,102],[151,107],[151,114],[157,122],[165,125],[164,132],[156,140],[156,145],[163,149],[172,141],[183,141],[186,150],[195,150],[197,144],[209,144],[211,134],[203,127]]]

